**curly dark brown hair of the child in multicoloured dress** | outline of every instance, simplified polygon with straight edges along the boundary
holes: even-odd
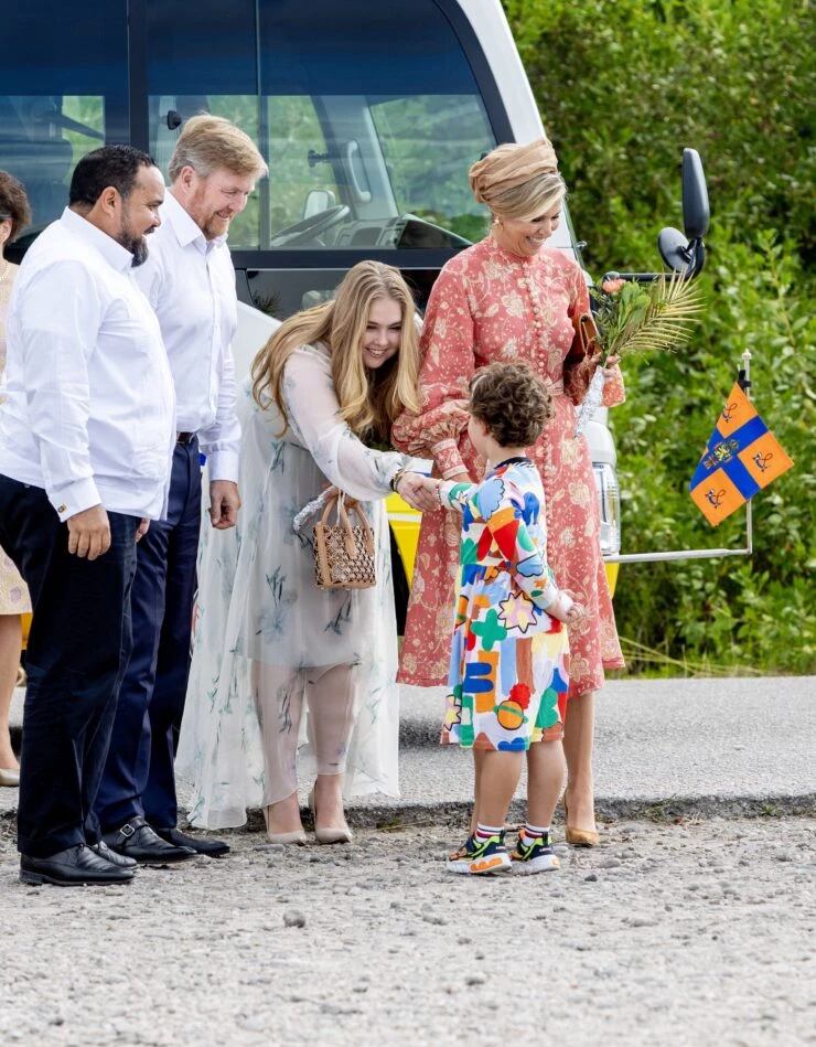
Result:
[[[532,447],[552,415],[549,393],[526,364],[481,367],[470,391],[470,413],[500,447]]]

